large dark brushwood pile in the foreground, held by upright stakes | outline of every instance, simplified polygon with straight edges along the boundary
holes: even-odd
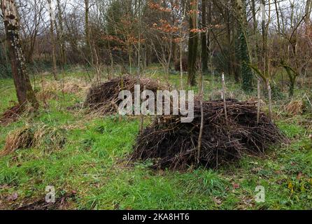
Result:
[[[201,109],[194,103],[192,123],[180,123],[179,116],[162,116],[141,133],[133,160],[153,160],[155,168],[187,169],[190,166],[218,168],[241,158],[243,153],[260,155],[284,137],[278,127],[260,113],[257,103],[227,100],[227,120],[222,101],[204,102],[204,129],[198,150]],[[199,153],[199,157],[198,157]]]

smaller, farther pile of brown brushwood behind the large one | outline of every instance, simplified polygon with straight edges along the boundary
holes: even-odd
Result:
[[[85,99],[84,106],[89,107],[92,111],[99,111],[103,114],[114,114],[118,112],[118,105],[121,102],[118,94],[122,90],[129,90],[134,94],[134,85],[138,84],[136,78],[124,76],[122,78],[113,78],[105,83],[95,85],[90,88]],[[159,83],[158,80],[150,78],[141,78],[139,81],[141,92],[144,90],[164,90],[166,87]]]

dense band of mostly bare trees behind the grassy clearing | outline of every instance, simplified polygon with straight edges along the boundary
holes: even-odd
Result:
[[[250,92],[257,78],[251,64],[268,78],[285,74],[290,96],[297,77],[311,76],[311,0],[140,2],[141,22],[137,0],[17,0],[29,69],[56,74],[81,65],[104,76],[159,63],[169,76],[173,63],[185,61],[190,85],[199,67],[207,74],[213,67]],[[1,43],[1,67],[9,71],[8,45]]]

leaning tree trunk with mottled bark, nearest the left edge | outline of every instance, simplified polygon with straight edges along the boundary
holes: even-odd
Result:
[[[20,106],[30,103],[34,109],[38,109],[38,101],[31,87],[29,75],[22,52],[22,46],[19,36],[19,25],[17,18],[17,8],[15,1],[2,0],[1,10],[3,13],[3,22],[6,29],[6,38],[10,48],[10,59],[12,66],[13,79],[17,92],[17,100]]]

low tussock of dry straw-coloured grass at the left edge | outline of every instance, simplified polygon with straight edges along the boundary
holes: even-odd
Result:
[[[0,157],[9,155],[17,149],[43,148],[45,152],[63,148],[66,142],[66,131],[43,124],[25,125],[13,130],[6,137],[6,144],[0,151]]]

